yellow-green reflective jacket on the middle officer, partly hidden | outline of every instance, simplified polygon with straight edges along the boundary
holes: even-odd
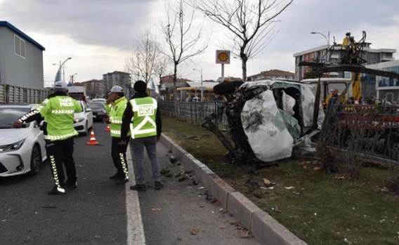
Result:
[[[122,96],[110,106],[108,116],[110,116],[110,133],[112,137],[121,138],[122,117],[124,116],[127,102],[126,97]],[[130,132],[128,132],[128,135],[130,135]]]

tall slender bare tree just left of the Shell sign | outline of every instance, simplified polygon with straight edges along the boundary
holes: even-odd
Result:
[[[168,1],[169,3],[170,1]],[[162,51],[167,55],[174,64],[174,101],[175,112],[177,112],[177,74],[178,65],[182,62],[190,60],[195,55],[204,52],[208,46],[206,41],[204,44],[199,45],[202,40],[202,26],[199,29],[193,30],[195,9],[188,9],[183,0],[173,1],[173,3],[166,4],[165,13],[166,20],[160,20],[162,32],[166,41],[167,48]],[[177,116],[177,114],[175,114]]]

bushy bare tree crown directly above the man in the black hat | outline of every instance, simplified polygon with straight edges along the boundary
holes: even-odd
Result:
[[[147,30],[145,37],[136,41],[131,57],[126,61],[126,69],[132,74],[133,79],[143,79],[146,84],[151,81],[155,75],[157,53],[157,43],[152,39],[150,30]]]

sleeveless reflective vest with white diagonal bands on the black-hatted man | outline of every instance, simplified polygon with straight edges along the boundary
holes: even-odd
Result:
[[[145,138],[157,135],[157,100],[151,97],[130,100],[133,121],[130,124],[131,138]]]

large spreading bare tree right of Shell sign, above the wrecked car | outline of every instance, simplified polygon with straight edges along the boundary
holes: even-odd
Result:
[[[198,0],[196,8],[232,35],[233,55],[242,62],[242,79],[247,80],[247,61],[255,58],[275,37],[273,29],[278,15],[293,0]]]

